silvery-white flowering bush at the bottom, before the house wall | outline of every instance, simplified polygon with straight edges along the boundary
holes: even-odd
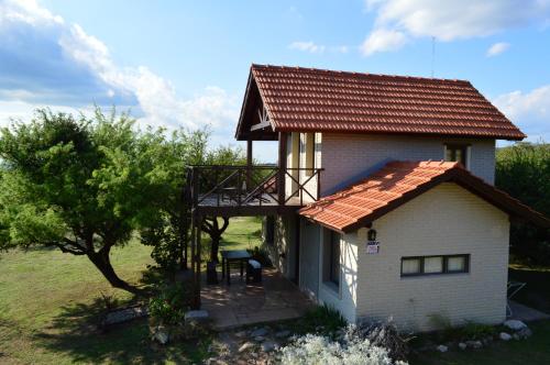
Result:
[[[331,341],[327,336],[306,334],[280,349],[279,360],[287,365],[405,365],[393,362],[388,351],[375,346],[369,339],[345,335],[342,341]]]

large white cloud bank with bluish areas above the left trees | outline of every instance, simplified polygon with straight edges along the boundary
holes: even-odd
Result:
[[[30,118],[38,107],[74,112],[94,102],[131,108],[140,123],[170,129],[209,124],[227,132],[237,121],[238,102],[224,90],[208,87],[182,99],[168,80],[147,67],[116,65],[103,42],[36,1],[1,2],[0,37],[16,41],[0,43],[6,64],[0,69],[2,123],[9,117]],[[18,64],[22,60],[24,67]]]

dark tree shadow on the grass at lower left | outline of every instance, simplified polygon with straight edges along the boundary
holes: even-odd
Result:
[[[107,332],[97,329],[103,311],[99,301],[65,306],[52,324],[34,334],[35,344],[63,353],[76,363],[164,363],[200,361],[206,353],[197,343],[161,347],[150,340],[147,321],[134,320]]]

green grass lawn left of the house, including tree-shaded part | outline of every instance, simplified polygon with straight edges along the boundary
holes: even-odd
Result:
[[[258,222],[232,219],[222,245],[258,244]],[[111,259],[133,284],[153,264],[150,247],[136,241],[113,250]],[[112,289],[86,257],[45,248],[0,254],[0,364],[194,363],[205,355],[207,342],[153,349],[146,321],[98,334],[90,323],[101,292],[121,302],[133,299]]]

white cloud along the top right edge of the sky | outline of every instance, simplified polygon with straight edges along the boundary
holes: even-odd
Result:
[[[550,0],[366,0],[366,4],[376,12],[367,40],[380,30],[409,38],[464,40],[550,20]]]

